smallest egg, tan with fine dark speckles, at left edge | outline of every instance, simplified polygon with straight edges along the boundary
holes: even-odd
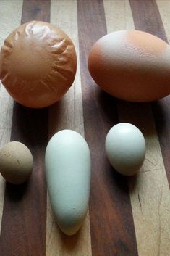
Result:
[[[33,156],[25,144],[11,141],[0,149],[0,172],[9,183],[24,183],[32,170]]]

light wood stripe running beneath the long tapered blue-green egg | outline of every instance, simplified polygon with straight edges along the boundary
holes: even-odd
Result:
[[[63,99],[49,110],[49,137],[56,131],[72,129],[84,136],[82,91],[80,81],[79,44],[77,31],[77,1],[51,1],[51,23],[57,25],[72,39],[77,52],[75,82]],[[47,202],[46,256],[90,256],[89,213],[75,236],[61,234],[54,222],[51,205]]]

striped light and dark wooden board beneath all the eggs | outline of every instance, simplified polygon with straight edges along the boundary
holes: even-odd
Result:
[[[101,91],[88,73],[90,48],[114,30],[144,30],[169,42],[169,0],[0,1],[0,44],[29,20],[58,25],[75,44],[75,82],[60,102],[30,110],[0,87],[0,146],[25,143],[35,160],[22,186],[0,177],[1,256],[169,256],[170,98],[152,104],[122,102]],[[104,141],[119,122],[137,125],[147,153],[137,176],[116,173],[106,160]],[[44,153],[48,139],[64,128],[85,136],[92,155],[88,215],[80,232],[64,236],[48,199]]]

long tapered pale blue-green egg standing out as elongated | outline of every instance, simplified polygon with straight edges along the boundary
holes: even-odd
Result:
[[[45,159],[48,193],[56,221],[64,234],[75,234],[88,210],[88,144],[75,131],[59,131],[48,142]]]

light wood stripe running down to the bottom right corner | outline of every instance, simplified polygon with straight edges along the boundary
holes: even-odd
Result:
[[[109,1],[104,1],[108,32],[134,28],[129,2],[124,1],[124,4],[118,2],[112,1],[109,7]],[[119,6],[119,11],[121,10],[119,20],[123,21],[116,24],[111,22],[110,17],[117,16],[116,7],[119,4],[121,4]],[[140,9],[140,13],[142,16],[142,9]],[[133,15],[136,13],[134,12]],[[140,17],[137,16],[136,20],[140,22]],[[143,22],[145,21],[143,20]],[[124,27],[120,27],[119,24],[123,24]],[[140,29],[145,30],[143,27]],[[138,254],[139,256],[169,255],[169,185],[150,104],[119,102],[118,112],[120,122],[133,123],[140,128],[147,144],[143,168],[138,176],[129,178]]]

